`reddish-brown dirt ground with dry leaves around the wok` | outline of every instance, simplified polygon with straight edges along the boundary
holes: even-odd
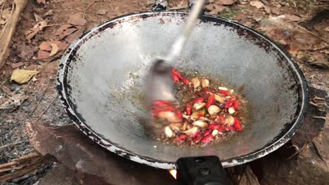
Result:
[[[186,0],[169,2],[170,8],[186,11]],[[0,30],[12,3],[0,0]],[[28,0],[13,36],[10,55],[0,69],[0,105],[10,99],[20,100],[0,108],[0,164],[34,151],[25,133],[25,123],[72,123],[55,88],[58,61],[67,44],[101,22],[127,13],[149,11],[151,3],[146,0]],[[320,21],[313,29],[305,27],[311,27],[309,20],[329,9],[329,1],[209,0],[205,9],[206,14],[240,22],[269,36],[292,54],[310,85],[328,92],[328,12],[318,17]],[[32,28],[40,22],[45,25],[34,33]],[[27,83],[18,84],[10,81],[15,69],[39,73]],[[26,184],[33,184],[38,178]]]

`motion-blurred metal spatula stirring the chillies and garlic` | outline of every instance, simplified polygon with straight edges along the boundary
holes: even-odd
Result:
[[[176,41],[174,41],[167,57],[157,57],[157,59],[153,61],[153,66],[149,71],[150,76],[146,80],[146,99],[148,104],[156,100],[174,101],[174,85],[171,78],[172,65],[179,60],[181,51],[188,41],[195,22],[198,20],[205,6],[205,1],[206,0],[198,0],[193,5],[191,13],[188,15],[186,26],[183,32],[179,34]]]

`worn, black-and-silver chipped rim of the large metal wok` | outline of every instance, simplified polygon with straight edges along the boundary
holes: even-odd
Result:
[[[117,20],[121,20],[123,18],[128,18],[128,17],[136,16],[136,15],[150,15],[150,14],[161,15],[163,13],[188,15],[188,13],[178,12],[178,11],[162,11],[162,12],[146,11],[146,12],[138,12],[138,13],[129,13],[126,15],[118,16],[116,18],[108,20],[107,22],[103,22],[101,25],[98,25],[96,27],[93,27],[92,29],[89,29],[89,31],[82,34],[82,36],[80,36],[76,41],[74,41],[70,44],[70,46],[65,51],[65,54],[61,58],[60,65],[58,67],[56,88],[58,89],[58,95],[61,100],[60,102],[62,103],[63,107],[65,108],[65,111],[67,112],[68,116],[72,119],[72,121],[75,123],[77,128],[79,128],[79,130],[81,130],[85,135],[87,135],[89,138],[91,138],[94,142],[103,146],[105,149],[108,149],[109,151],[116,153],[119,156],[128,158],[129,160],[133,160],[137,163],[142,163],[142,164],[150,165],[153,167],[172,170],[172,169],[176,169],[175,162],[157,160],[154,158],[148,158],[146,156],[140,156],[140,155],[138,155],[138,153],[133,153],[120,146],[116,146],[116,144],[110,142],[109,139],[103,139],[96,132],[91,130],[91,128],[89,128],[88,125],[84,124],[84,122],[82,121],[82,118],[79,118],[79,116],[77,116],[77,114],[75,114],[74,107],[70,106],[70,102],[66,96],[67,91],[66,91],[66,87],[65,87],[65,78],[66,78],[65,75],[67,74],[66,73],[67,62],[70,61],[70,55],[72,55],[72,52],[75,50],[75,48],[77,48],[77,46],[79,46],[79,43],[82,42],[82,40],[84,38],[89,36],[89,34],[92,34],[94,31],[100,29],[101,27],[103,27],[105,25],[108,25],[112,22],[116,22]],[[247,153],[243,156],[238,156],[236,158],[228,158],[227,160],[222,161],[221,163],[222,163],[223,167],[231,167],[231,166],[235,166],[235,165],[241,165],[243,163],[248,163],[252,160],[256,160],[257,158],[262,158],[262,157],[266,156],[267,154],[280,148],[280,146],[283,146],[283,144],[285,144],[286,142],[288,142],[289,139],[293,135],[295,135],[295,133],[300,128],[302,123],[304,123],[304,116],[307,113],[307,108],[308,108],[307,102],[309,100],[308,85],[304,78],[304,74],[302,74],[302,71],[299,69],[298,65],[294,62],[294,60],[292,59],[292,57],[288,53],[288,51],[286,51],[281,46],[279,46],[275,41],[269,39],[269,37],[264,36],[263,34],[255,31],[254,29],[241,25],[238,22],[228,20],[226,18],[219,18],[219,17],[214,17],[211,15],[202,15],[202,19],[203,18],[205,18],[206,20],[210,19],[210,20],[219,20],[221,22],[228,22],[228,23],[236,25],[242,29],[246,29],[248,32],[253,32],[257,36],[262,37],[262,39],[271,43],[273,45],[273,47],[276,48],[278,50],[278,52],[280,52],[288,60],[288,63],[290,63],[293,71],[295,71],[295,74],[299,78],[300,84],[298,84],[298,85],[302,91],[302,104],[301,104],[301,107],[299,110],[299,115],[297,116],[297,119],[296,119],[295,123],[291,126],[290,130],[285,132],[285,134],[282,137],[280,137],[279,139],[273,139],[271,142],[269,142],[269,144],[264,145],[264,147],[262,147],[262,149],[253,151],[251,153]],[[73,53],[73,55],[74,54],[75,53]]]

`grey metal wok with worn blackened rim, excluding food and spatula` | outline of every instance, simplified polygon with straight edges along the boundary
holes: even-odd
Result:
[[[167,53],[186,17],[178,12],[124,15],[72,43],[57,79],[70,118],[105,149],[165,169],[176,168],[175,161],[186,156],[216,155],[224,167],[238,165],[285,144],[307,110],[307,84],[301,71],[265,36],[207,15],[197,23],[176,67],[241,88],[250,102],[243,132],[200,149],[162,145],[146,135],[146,71],[153,58]]]

